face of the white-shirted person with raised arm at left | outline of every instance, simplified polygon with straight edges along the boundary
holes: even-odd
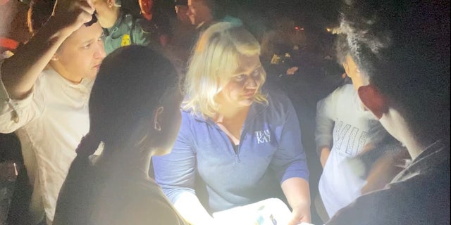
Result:
[[[71,82],[78,83],[83,78],[94,79],[105,58],[101,36],[99,23],[89,27],[82,25],[61,44],[51,60],[51,66]]]

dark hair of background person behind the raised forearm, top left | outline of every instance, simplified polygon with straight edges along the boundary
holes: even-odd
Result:
[[[27,26],[35,34],[49,20],[54,11],[55,0],[32,0],[28,8]]]

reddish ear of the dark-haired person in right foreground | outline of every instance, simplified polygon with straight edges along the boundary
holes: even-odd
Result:
[[[388,100],[381,91],[374,85],[360,86],[357,90],[360,101],[365,107],[371,110],[378,119],[381,119],[384,113],[388,113]]]

